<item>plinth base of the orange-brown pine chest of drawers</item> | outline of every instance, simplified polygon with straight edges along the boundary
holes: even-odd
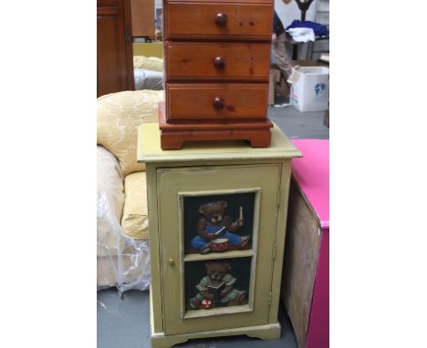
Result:
[[[161,148],[179,149],[186,141],[198,140],[247,140],[253,148],[270,146],[273,123],[267,118],[259,122],[172,124],[166,121],[164,103],[159,103]]]

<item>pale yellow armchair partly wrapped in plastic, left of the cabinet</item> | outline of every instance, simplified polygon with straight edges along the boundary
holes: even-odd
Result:
[[[163,91],[99,97],[97,155],[98,288],[150,285],[145,165],[137,162],[138,126],[157,121]]]

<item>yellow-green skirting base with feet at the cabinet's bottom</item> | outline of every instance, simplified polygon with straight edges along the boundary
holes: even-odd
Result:
[[[164,333],[151,334],[152,348],[170,348],[174,344],[184,343],[191,339],[235,336],[245,334],[249,337],[260,338],[262,340],[278,340],[280,338],[281,325],[280,322],[275,322],[266,325],[238,327],[234,329],[224,329],[216,331],[208,331],[203,333],[180,333],[173,335],[165,335]]]

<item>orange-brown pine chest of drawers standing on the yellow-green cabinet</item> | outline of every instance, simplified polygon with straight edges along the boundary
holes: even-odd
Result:
[[[163,0],[161,148],[192,140],[270,145],[271,0]]]

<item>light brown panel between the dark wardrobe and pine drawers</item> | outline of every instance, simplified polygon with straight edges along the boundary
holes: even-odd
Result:
[[[154,0],[130,0],[132,36],[154,37]]]

